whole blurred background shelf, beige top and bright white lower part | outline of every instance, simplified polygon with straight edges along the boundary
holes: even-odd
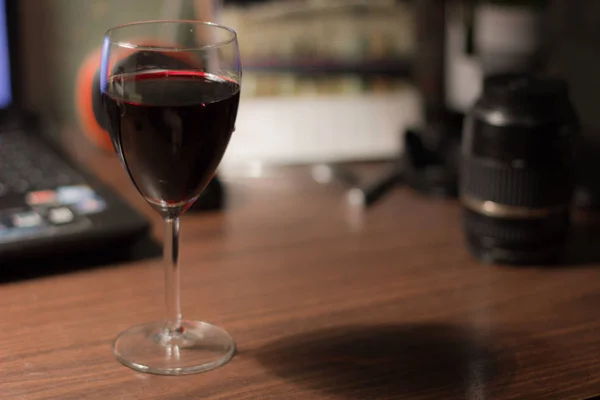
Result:
[[[390,159],[420,118],[414,7],[396,0],[224,0],[243,106],[224,167]]]

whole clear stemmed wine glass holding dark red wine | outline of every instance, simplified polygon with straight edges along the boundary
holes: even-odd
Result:
[[[241,77],[236,33],[222,25],[143,21],[104,37],[100,87],[110,136],[166,225],[165,321],[130,328],[112,347],[133,369],[183,375],[223,365],[235,352],[221,328],[182,319],[178,245],[179,216],[213,178],[234,130]]]

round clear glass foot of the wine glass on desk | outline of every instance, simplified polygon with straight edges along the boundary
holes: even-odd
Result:
[[[167,331],[165,322],[129,328],[113,342],[113,354],[130,368],[157,375],[208,371],[235,354],[235,343],[223,329],[199,321],[182,321],[181,327],[176,333]]]

